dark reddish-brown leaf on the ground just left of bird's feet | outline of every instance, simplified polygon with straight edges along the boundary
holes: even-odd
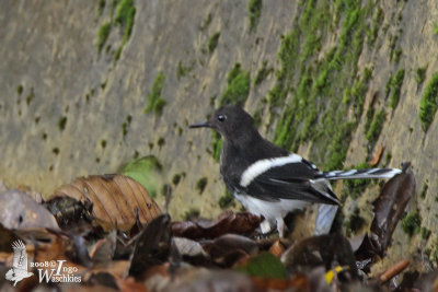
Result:
[[[214,221],[198,220],[185,222],[172,222],[172,233],[174,236],[196,238],[216,238],[227,233],[251,234],[263,217],[254,215],[249,212],[234,213],[226,211]]]

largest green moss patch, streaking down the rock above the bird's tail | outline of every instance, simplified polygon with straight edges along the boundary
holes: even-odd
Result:
[[[283,38],[280,68],[268,93],[272,114],[280,113],[274,141],[290,151],[311,141],[309,159],[324,168],[343,167],[371,78],[371,70],[359,74],[357,62],[376,4],[313,0],[298,5],[302,9]],[[333,32],[337,43],[322,51]]]

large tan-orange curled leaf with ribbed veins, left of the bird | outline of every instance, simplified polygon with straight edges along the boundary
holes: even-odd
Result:
[[[71,197],[83,206],[92,203],[92,215],[105,230],[129,230],[138,217],[147,224],[161,211],[147,190],[124,175],[92,175],[79,177],[55,191],[54,198]],[[53,199],[54,199],[53,198]]]

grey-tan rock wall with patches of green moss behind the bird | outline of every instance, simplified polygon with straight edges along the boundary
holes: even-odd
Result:
[[[165,189],[172,219],[181,220],[191,208],[214,218],[220,207],[241,206],[223,196],[218,162],[209,154],[219,157],[219,137],[187,126],[224,103],[239,103],[264,137],[322,171],[368,162],[380,143],[384,152],[378,166],[411,161],[417,182],[429,182],[416,202],[424,231],[406,242],[397,227],[393,248],[410,253],[420,234],[438,232],[438,184],[430,172],[438,168],[438,69],[430,59],[437,55],[436,8],[359,0],[153,3],[11,1],[0,11],[0,33],[8,39],[0,63],[0,92],[8,96],[0,97],[4,184],[28,185],[48,196],[72,177],[115,173],[131,159],[153,155],[162,164],[154,180],[160,207]],[[252,31],[251,13],[257,23]],[[54,30],[47,31],[49,17]],[[99,54],[105,23],[111,32],[101,32],[108,35],[106,42],[101,38]],[[208,43],[217,33],[210,54]],[[403,82],[393,81],[402,69]],[[395,84],[400,94],[393,94]],[[148,98],[153,92],[159,94]],[[62,127],[60,117],[67,120]],[[199,195],[201,177],[208,183]],[[366,209],[379,185],[362,190],[359,183],[351,188],[359,190],[357,200]],[[334,188],[339,195],[346,187],[338,183]],[[350,201],[345,196],[344,209]],[[427,241],[430,255],[435,237]]]

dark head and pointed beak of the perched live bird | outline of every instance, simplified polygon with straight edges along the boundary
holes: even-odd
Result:
[[[222,106],[207,121],[189,126],[191,128],[207,127],[217,130],[224,139],[239,139],[252,131],[257,131],[254,120],[239,106]]]

